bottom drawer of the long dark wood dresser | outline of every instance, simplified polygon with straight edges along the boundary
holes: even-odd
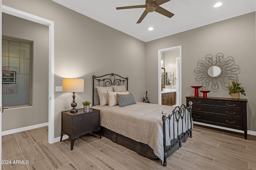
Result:
[[[214,125],[223,126],[226,125],[227,127],[239,127],[242,128],[242,119],[236,119],[232,117],[224,117],[218,115],[211,115],[205,113],[193,113],[192,118],[194,121],[199,121],[203,123],[210,123]]]

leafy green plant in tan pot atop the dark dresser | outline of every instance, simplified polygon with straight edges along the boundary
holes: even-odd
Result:
[[[239,99],[240,98],[240,93],[242,95],[246,95],[245,94],[245,88],[240,86],[241,83],[238,83],[236,81],[232,81],[232,84],[230,86],[227,86],[228,88],[228,94],[231,95],[231,98],[233,99]]]

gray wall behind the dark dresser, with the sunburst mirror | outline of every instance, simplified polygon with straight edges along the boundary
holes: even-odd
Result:
[[[211,54],[215,57],[234,57],[240,67],[239,82],[246,87],[248,130],[256,131],[256,37],[255,12],[220,21],[146,43],[146,90],[152,102],[158,101],[158,50],[182,45],[182,103],[194,95],[191,85],[196,84],[194,68],[199,60]],[[219,88],[208,96],[230,98],[228,90]]]

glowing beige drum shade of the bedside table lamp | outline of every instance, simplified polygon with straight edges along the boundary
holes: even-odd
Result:
[[[63,78],[62,92],[84,92],[84,79]]]

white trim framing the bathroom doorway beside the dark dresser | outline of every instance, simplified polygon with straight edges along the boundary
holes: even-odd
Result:
[[[179,54],[176,57],[176,106],[181,105],[181,65],[182,65],[182,48],[180,46],[170,47],[158,50],[158,104],[162,104],[162,57],[165,52],[178,50]]]

